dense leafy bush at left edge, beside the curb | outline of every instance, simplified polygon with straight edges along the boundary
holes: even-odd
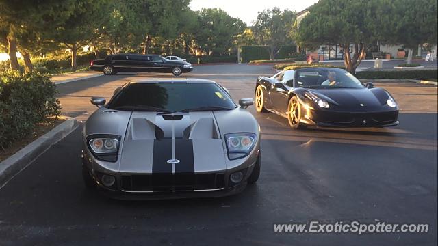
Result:
[[[60,115],[56,93],[47,74],[9,70],[0,75],[0,150]]]

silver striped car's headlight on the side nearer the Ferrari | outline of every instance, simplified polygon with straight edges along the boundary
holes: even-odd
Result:
[[[253,150],[257,142],[257,135],[254,133],[231,133],[226,134],[225,139],[228,158],[234,160],[247,156]]]

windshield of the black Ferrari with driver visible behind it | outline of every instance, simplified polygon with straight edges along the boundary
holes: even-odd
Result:
[[[342,69],[304,68],[296,71],[296,87],[363,88],[359,79]]]

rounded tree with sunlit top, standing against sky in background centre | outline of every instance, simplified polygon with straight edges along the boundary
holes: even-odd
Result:
[[[270,59],[275,58],[281,46],[292,43],[294,22],[295,12],[291,10],[281,12],[275,7],[259,12],[253,33],[257,44],[268,46]]]

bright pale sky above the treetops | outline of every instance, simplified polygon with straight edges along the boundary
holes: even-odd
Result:
[[[221,8],[230,16],[238,17],[247,25],[252,25],[252,22],[257,19],[259,11],[272,9],[276,6],[281,10],[289,9],[300,12],[316,2],[318,0],[192,0],[189,7],[192,10]]]

